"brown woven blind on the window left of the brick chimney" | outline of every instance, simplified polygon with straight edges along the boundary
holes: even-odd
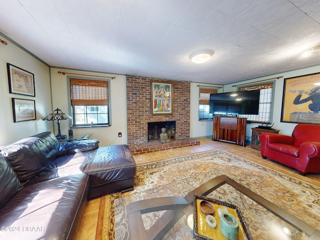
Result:
[[[70,78],[71,105],[107,105],[108,82]]]

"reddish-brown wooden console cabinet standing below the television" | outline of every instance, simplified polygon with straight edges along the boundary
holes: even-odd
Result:
[[[213,117],[213,141],[227,141],[245,146],[245,130],[245,117]]]

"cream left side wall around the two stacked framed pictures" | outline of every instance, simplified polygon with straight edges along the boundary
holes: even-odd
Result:
[[[0,146],[51,130],[52,126],[42,120],[51,110],[49,67],[5,37],[1,39],[8,44],[0,44]],[[35,97],[9,93],[7,62],[34,74]],[[13,122],[12,97],[35,100],[36,120]]]

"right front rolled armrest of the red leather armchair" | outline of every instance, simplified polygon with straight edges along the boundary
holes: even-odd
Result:
[[[307,141],[300,145],[297,170],[304,172],[310,157],[320,157],[320,142]]]

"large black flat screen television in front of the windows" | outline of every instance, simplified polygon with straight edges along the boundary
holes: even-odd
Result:
[[[210,94],[210,113],[239,115],[259,113],[260,89]]]

